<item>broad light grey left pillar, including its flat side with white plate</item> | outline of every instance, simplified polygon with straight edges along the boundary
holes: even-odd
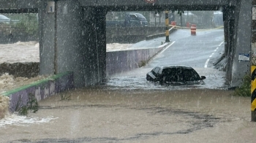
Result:
[[[49,2],[55,4],[53,12],[49,12]],[[88,47],[85,44],[87,34],[83,7],[80,7],[78,0],[41,0],[40,7],[39,73],[73,71],[75,87],[85,86],[89,62],[86,61]]]

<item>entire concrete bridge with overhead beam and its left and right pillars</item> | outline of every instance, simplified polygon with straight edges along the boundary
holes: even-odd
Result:
[[[225,23],[227,80],[241,84],[249,72],[252,1],[249,0],[0,0],[0,12],[38,12],[40,74],[74,71],[75,86],[100,82],[106,69],[108,11],[219,10]]]

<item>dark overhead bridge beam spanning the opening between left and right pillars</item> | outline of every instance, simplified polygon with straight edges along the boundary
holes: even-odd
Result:
[[[236,5],[235,0],[157,0],[154,4],[148,4],[144,0],[79,0],[82,6],[90,7],[110,7],[110,9],[116,9],[121,11],[126,10],[154,10],[154,9],[184,9],[184,10],[218,10],[225,5]]]

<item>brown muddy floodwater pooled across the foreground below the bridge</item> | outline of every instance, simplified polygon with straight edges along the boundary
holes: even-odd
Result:
[[[255,142],[250,98],[232,90],[82,88],[39,102],[31,118],[0,128],[2,142]],[[61,100],[61,96],[66,98]]]

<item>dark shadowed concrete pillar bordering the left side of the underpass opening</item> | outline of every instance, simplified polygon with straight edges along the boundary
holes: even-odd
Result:
[[[101,82],[106,77],[106,26],[107,11],[85,7],[86,20],[86,85]]]

